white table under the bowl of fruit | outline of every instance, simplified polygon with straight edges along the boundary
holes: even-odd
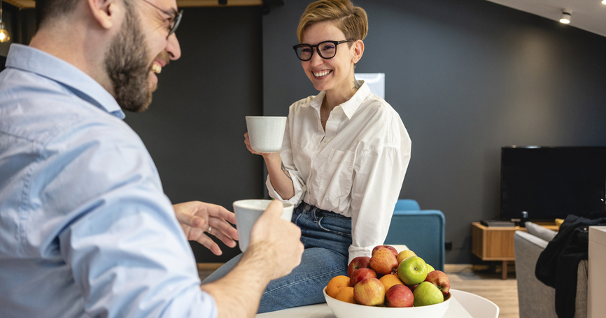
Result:
[[[486,303],[486,302],[494,305],[494,303],[492,303],[491,301],[488,301],[486,298],[483,298],[483,297],[480,297],[477,295],[473,295],[473,294],[469,294],[469,293],[465,293],[465,294],[475,296],[476,299],[474,299],[473,302],[471,302],[471,303],[466,302],[465,305],[462,305],[461,303],[459,303],[457,301],[457,298],[456,298],[457,290],[456,289],[451,289],[451,290],[454,291],[453,299],[451,300],[451,304],[450,304],[448,310],[446,311],[446,314],[444,314],[443,318],[478,318],[478,317],[472,317],[472,315],[470,315],[470,313],[467,312],[467,310],[465,310],[465,306],[479,305],[481,303]],[[497,315],[498,315],[498,307],[497,307]],[[328,308],[328,305],[326,303],[302,306],[302,307],[296,307],[296,308],[289,308],[289,309],[285,309],[285,310],[279,310],[276,312],[266,312],[265,314],[258,314],[255,317],[256,318],[287,318],[287,317],[288,318],[336,318],[334,316],[334,314],[332,313],[332,311],[330,310],[330,308]]]

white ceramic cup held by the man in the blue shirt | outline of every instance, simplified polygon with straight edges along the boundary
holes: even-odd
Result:
[[[248,240],[251,238],[251,229],[257,219],[267,209],[267,205],[272,203],[272,200],[240,200],[234,202],[234,213],[236,214],[236,228],[238,229],[238,245],[242,252],[248,247]],[[282,211],[282,219],[290,221],[293,217],[293,203],[284,202],[284,210]]]

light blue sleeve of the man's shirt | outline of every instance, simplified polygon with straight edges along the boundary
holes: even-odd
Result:
[[[217,317],[153,161],[125,126],[81,122],[47,147],[43,197],[67,220],[56,237],[87,315]]]

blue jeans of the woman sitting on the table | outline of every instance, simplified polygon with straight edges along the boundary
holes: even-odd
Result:
[[[351,218],[301,203],[293,211],[293,223],[301,228],[305,246],[301,264],[290,274],[267,285],[259,313],[324,303],[322,290],[337,275],[347,275],[348,248],[351,245]],[[230,259],[202,282],[225,276],[242,254]]]

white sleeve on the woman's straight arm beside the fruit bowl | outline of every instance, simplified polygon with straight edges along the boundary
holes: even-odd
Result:
[[[384,123],[379,125],[385,129],[381,145],[362,155],[354,168],[348,262],[370,256],[376,245],[384,243],[410,161],[411,140],[400,117],[379,119],[375,123]]]

